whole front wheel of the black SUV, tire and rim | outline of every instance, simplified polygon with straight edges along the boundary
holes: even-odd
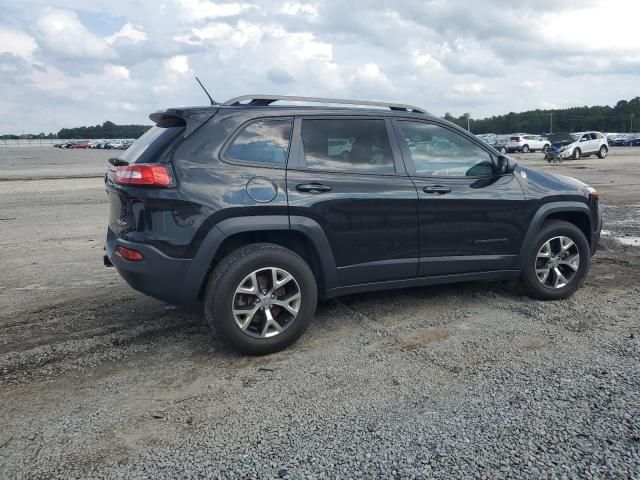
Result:
[[[566,242],[562,245],[561,242],[564,240],[561,241],[561,238],[568,239],[571,244]],[[545,257],[547,242],[549,242],[550,255]],[[553,254],[562,252],[564,247],[567,247],[564,253],[567,255],[565,258],[560,255],[551,257]],[[572,260],[576,256],[577,264]],[[533,247],[525,254],[522,282],[527,293],[534,298],[540,300],[567,298],[573,295],[584,282],[589,271],[590,260],[591,250],[584,233],[572,223],[550,220],[544,223]],[[557,266],[547,262],[557,262]],[[566,283],[558,277],[556,270],[562,274],[561,278],[564,278]]]

